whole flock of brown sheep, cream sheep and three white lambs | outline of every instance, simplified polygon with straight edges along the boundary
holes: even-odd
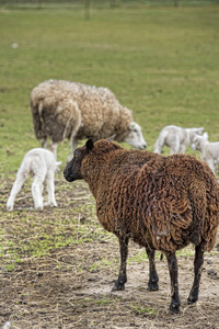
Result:
[[[209,143],[204,127],[163,127],[153,152],[146,151],[141,126],[131,110],[123,106],[107,88],[80,82],[48,80],[31,92],[31,113],[35,137],[42,148],[30,150],[16,173],[7,209],[24,181],[34,177],[32,195],[36,209],[57,206],[55,171],[58,144],[70,141],[64,171],[72,182],[83,179],[96,201],[101,225],[119,242],[120,269],[113,291],[125,290],[128,242],[146,248],[149,258],[149,291],[159,290],[155,251],[165,254],[171,277],[171,313],[178,313],[177,259],[175,252],[195,246],[194,282],[187,303],[198,299],[204,252],[214,248],[219,226],[219,185],[215,169],[219,162],[219,143]],[[113,136],[113,137],[111,137]],[[89,139],[88,139],[89,138]],[[46,150],[50,139],[50,151]],[[88,139],[83,147],[78,141]],[[117,143],[136,149],[126,150]],[[192,145],[201,160],[184,155]],[[170,156],[162,156],[162,148]],[[48,202],[43,204],[43,183]]]

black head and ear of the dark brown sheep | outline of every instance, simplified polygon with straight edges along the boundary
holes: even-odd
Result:
[[[81,173],[81,162],[92,149],[93,139],[90,138],[83,147],[79,147],[74,150],[72,160],[66,166],[64,170],[64,177],[68,182],[83,179],[83,175]]]

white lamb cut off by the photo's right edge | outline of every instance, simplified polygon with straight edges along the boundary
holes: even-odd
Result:
[[[196,135],[193,139],[192,149],[198,150],[203,161],[207,162],[212,172],[219,162],[219,141],[208,141],[208,133],[203,136]]]

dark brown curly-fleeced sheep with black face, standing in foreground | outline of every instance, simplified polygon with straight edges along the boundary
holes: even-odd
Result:
[[[145,163],[138,163],[142,154]],[[147,154],[148,160],[143,154]],[[204,251],[212,249],[219,225],[219,185],[209,167],[189,155],[163,157],[125,150],[106,139],[74,150],[64,171],[67,181],[84,179],[96,200],[103,227],[119,240],[120,270],[113,291],[125,290],[128,241],[146,248],[148,290],[157,291],[155,250],[168,259],[172,313],[180,311],[175,252],[195,245],[194,283],[187,303],[198,299]]]

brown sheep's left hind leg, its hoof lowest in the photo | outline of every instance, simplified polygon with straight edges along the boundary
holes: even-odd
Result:
[[[177,282],[177,259],[175,257],[175,252],[168,252],[168,266],[170,271],[171,277],[171,305],[170,311],[171,313],[178,313],[181,306],[181,299],[178,296],[178,282]]]

